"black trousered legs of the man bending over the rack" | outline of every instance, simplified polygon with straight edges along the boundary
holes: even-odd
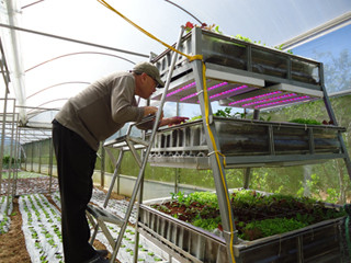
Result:
[[[53,123],[61,198],[61,227],[66,263],[84,262],[95,255],[89,244],[86,208],[92,195],[92,173],[97,152],[76,133]]]

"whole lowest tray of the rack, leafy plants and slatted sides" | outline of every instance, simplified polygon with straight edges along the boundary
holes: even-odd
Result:
[[[173,243],[182,256],[226,262],[215,195],[189,196],[141,205],[140,227]],[[235,254],[242,262],[349,262],[342,207],[256,191],[234,192],[230,201],[239,237]]]

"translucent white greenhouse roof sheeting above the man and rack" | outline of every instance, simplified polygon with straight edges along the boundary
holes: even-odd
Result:
[[[170,45],[190,21],[275,46],[351,11],[350,0],[107,2]],[[90,82],[166,48],[98,0],[5,0],[0,5],[10,96],[23,106],[18,108],[23,122],[49,123]]]

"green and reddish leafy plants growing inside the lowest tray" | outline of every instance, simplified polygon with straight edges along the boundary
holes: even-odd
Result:
[[[307,197],[241,190],[230,194],[238,237],[256,240],[346,215],[342,207],[326,206]],[[165,214],[208,231],[223,231],[217,196],[210,192],[172,194],[169,202],[151,205]],[[216,231],[215,231],[216,230]]]

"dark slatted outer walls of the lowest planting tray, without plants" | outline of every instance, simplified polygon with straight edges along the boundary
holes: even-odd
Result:
[[[225,240],[149,205],[140,205],[140,231],[163,243],[182,262],[228,262]],[[349,262],[344,218],[321,221],[291,232],[234,245],[241,263],[251,262]],[[170,249],[171,248],[171,249]]]

